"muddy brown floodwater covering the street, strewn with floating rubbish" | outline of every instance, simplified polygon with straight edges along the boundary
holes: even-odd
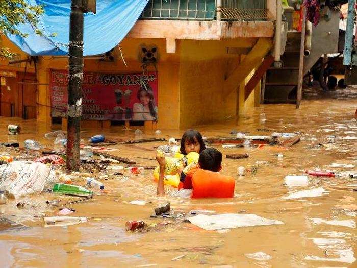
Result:
[[[352,93],[355,97],[355,91]],[[357,166],[356,100],[348,95],[304,100],[299,110],[293,105],[263,105],[240,118],[238,123],[227,120],[222,124],[197,126],[207,137],[229,137],[232,129],[251,135],[301,133],[301,141],[286,150],[269,146],[263,149],[215,146],[224,155],[222,172],[236,180],[232,199],[159,198],[152,170],[145,170],[144,175],[129,175],[129,179],[110,175],[113,171],[106,170],[91,175],[104,183],[103,192],[95,191],[93,199],[67,206],[76,210],[70,216],[89,217],[86,223],[42,226],[41,217],[57,215],[61,207],[47,206],[46,200],[61,199],[64,203],[77,200],[75,197],[42,193],[19,199],[29,203],[22,209],[16,207],[18,200],[0,205],[0,216],[30,227],[0,232],[1,266],[356,267],[357,191],[353,189],[357,188],[357,181],[348,177],[349,173],[356,173]],[[260,120],[261,113],[266,121]],[[8,136],[9,123],[20,125],[21,134]],[[2,141],[17,139],[23,146],[24,139],[33,138],[49,144],[48,147],[53,144],[53,139],[44,139],[43,133],[38,132],[36,121],[1,118],[0,130]],[[124,130],[118,126],[104,134],[109,139],[129,139],[135,137],[134,131],[135,128]],[[162,130],[160,135],[150,132],[140,138],[180,138],[183,132]],[[81,135],[87,139],[92,134],[98,132],[84,129]],[[326,140],[330,143],[319,145]],[[156,165],[155,160],[149,159],[155,158],[153,147],[161,144],[164,142],[110,148],[116,149],[112,154],[134,159],[140,165]],[[250,157],[226,159],[228,153],[247,153]],[[277,153],[284,155],[282,160],[277,159]],[[245,176],[237,175],[238,166],[246,168]],[[286,175],[302,175],[314,168],[333,170],[340,176],[309,176],[308,186],[284,185]],[[73,179],[73,184],[85,185],[85,181],[78,177]],[[325,194],[316,197],[302,194],[286,199],[292,192],[319,187]],[[175,190],[167,186],[166,189]],[[144,200],[147,204],[132,205],[133,200]],[[205,209],[218,214],[248,213],[284,224],[207,231],[190,223],[173,221],[165,227],[125,231],[128,220],[143,220],[147,224],[162,222],[163,219],[150,215],[156,205],[167,201],[177,212]],[[266,255],[253,254],[257,252]]]

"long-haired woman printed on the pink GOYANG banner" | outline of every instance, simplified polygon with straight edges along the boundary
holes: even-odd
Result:
[[[158,107],[155,106],[154,93],[149,85],[141,86],[137,98],[140,103],[133,105],[134,121],[156,121]]]

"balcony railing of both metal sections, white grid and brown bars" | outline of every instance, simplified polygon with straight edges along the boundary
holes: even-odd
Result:
[[[221,0],[222,20],[266,20],[267,0]],[[149,0],[141,19],[215,20],[216,0]]]

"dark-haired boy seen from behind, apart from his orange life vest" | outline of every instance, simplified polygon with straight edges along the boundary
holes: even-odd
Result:
[[[160,175],[158,180],[158,187],[156,194],[163,196],[165,194],[164,187],[164,170],[165,170],[165,157],[156,155],[156,160],[160,166]],[[219,172],[222,169],[222,153],[215,148],[207,148],[201,151],[198,164],[192,163],[184,168],[180,176],[179,190],[171,194],[173,197],[185,197],[190,198],[193,194],[192,176],[199,169],[209,170],[213,172]]]

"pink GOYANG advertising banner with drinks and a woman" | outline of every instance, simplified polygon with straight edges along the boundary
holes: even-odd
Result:
[[[52,117],[66,117],[67,71],[51,70]],[[155,121],[158,118],[158,73],[130,74],[85,72],[82,119]]]

